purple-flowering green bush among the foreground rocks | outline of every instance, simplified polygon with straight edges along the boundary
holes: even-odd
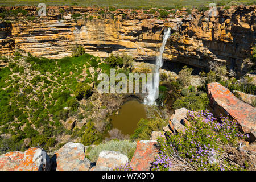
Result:
[[[225,144],[238,146],[238,139],[246,137],[238,132],[237,122],[229,117],[214,118],[206,111],[191,111],[190,126],[184,133],[167,133],[158,138],[160,154],[152,169],[170,170],[170,158],[177,154],[198,170],[242,169],[231,166],[222,158]]]

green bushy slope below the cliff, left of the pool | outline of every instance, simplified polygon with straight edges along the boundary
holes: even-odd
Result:
[[[88,55],[82,46],[76,46],[73,57],[63,59],[34,57],[29,53],[24,57],[20,52],[15,52],[14,56],[19,56],[19,60],[9,58],[9,66],[0,71],[0,134],[10,134],[0,140],[1,153],[28,147],[51,150],[59,143],[57,136],[71,133],[73,138],[80,137],[80,142],[88,145],[104,139],[110,123],[101,121],[103,130],[98,127],[99,124],[92,122],[91,115],[96,111],[92,102],[83,105],[80,100],[89,100],[92,96],[90,84],[98,84],[96,69],[110,73],[110,68],[115,66],[108,64],[110,59]],[[7,60],[6,57],[2,59]],[[131,57],[123,55],[117,59],[123,65],[117,73],[128,74],[130,69],[126,67]],[[80,113],[80,108],[85,113]],[[71,117],[79,122],[90,119],[84,127],[72,132],[64,127]]]

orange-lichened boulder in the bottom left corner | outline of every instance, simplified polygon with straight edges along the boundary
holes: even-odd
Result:
[[[0,170],[3,171],[49,171],[49,156],[42,148],[30,148],[25,152],[7,152],[0,156]]]

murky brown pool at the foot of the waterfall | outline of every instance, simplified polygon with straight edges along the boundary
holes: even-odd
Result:
[[[146,111],[143,104],[137,100],[131,100],[121,106],[119,114],[111,115],[109,118],[113,128],[121,130],[125,135],[131,135],[137,129],[139,119],[146,118]]]

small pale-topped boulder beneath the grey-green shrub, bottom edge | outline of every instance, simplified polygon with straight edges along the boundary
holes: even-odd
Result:
[[[105,169],[114,169],[122,164],[126,164],[129,162],[129,159],[126,155],[121,154],[116,151],[101,151],[98,156],[98,160],[96,162],[94,171],[101,171]]]

